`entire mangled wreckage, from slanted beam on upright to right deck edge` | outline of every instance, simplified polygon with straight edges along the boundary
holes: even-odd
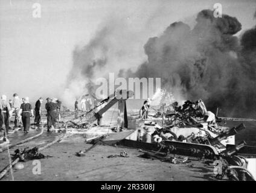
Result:
[[[154,109],[156,113],[152,118],[141,119],[127,115],[126,100],[131,96],[131,91],[116,90],[113,95],[99,101],[98,106],[89,112],[60,122],[62,129],[59,131],[69,133],[72,128],[77,128],[79,133],[98,127],[103,114],[117,104],[117,125],[112,127],[114,132],[87,139],[86,142],[93,144],[91,148],[99,144],[139,148],[146,152],[146,157],[169,160],[172,163],[176,163],[173,155],[196,157],[199,160],[209,160],[219,168],[217,179],[227,177],[229,180],[255,181],[256,147],[246,145],[245,141],[235,145],[235,134],[245,130],[245,125],[229,128],[225,127],[225,121],[256,120],[218,117],[206,110],[202,100],[186,101],[182,106],[177,102],[162,106],[159,110]],[[91,148],[77,155],[83,156]],[[37,151],[36,153],[38,154]],[[17,157],[16,153],[15,163],[19,159],[21,157]],[[8,167],[5,172],[7,170]]]

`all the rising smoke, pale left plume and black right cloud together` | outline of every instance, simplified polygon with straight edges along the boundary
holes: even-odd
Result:
[[[117,71],[126,78],[161,77],[161,87],[174,98],[202,98],[209,110],[222,109],[221,115],[255,115],[255,27],[238,38],[235,34],[242,25],[235,17],[215,18],[213,11],[202,10],[193,28],[174,22],[161,36],[150,38],[144,45],[147,62],[137,63],[135,72],[127,66],[136,61],[131,62],[134,57],[129,53],[136,39],[124,29],[109,22],[88,45],[74,50],[66,95],[72,93],[73,99],[94,92],[95,78]]]

